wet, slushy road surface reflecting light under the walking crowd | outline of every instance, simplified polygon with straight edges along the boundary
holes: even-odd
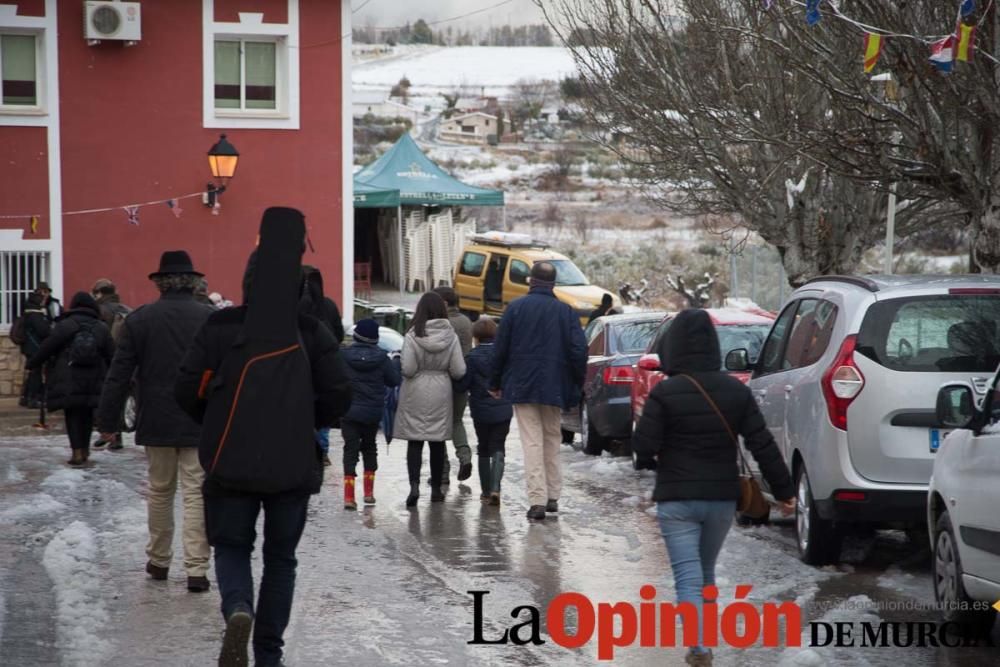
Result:
[[[143,573],[142,450],[96,453],[92,467],[70,470],[62,464],[68,450],[57,430],[39,435],[30,421],[3,419],[0,665],[213,664],[221,632],[216,591],[186,591],[179,545],[168,582]],[[562,511],[529,524],[516,426],[499,508],[480,504],[474,474],[465,483],[453,480],[444,503],[432,505],[425,485],[416,510],[407,510],[405,445],[397,441],[388,454],[380,442],[378,504],[346,511],[339,438],[334,443],[335,465],[310,504],[299,548],[286,633],[291,665],[598,664],[596,641],[575,650],[552,641],[469,645],[468,591],[489,591],[487,638],[516,622],[513,608],[544,609],[561,592],[638,604],[639,589],[652,584],[658,600],[672,599],[666,552],[647,500],[653,480],[630,472],[622,460],[564,448]],[[913,543],[898,532],[853,537],[843,564],[816,569],[798,560],[789,520],[734,527],[718,568],[720,604],[732,599],[736,584],[752,584],[752,602],[797,600],[807,620],[876,618],[844,606],[864,602],[882,605],[875,613],[884,620],[932,621],[933,610],[905,609],[932,600],[929,568],[926,540]],[[548,640],[544,631],[543,620]],[[993,641],[1000,643],[1000,624]],[[721,648],[715,663],[978,667],[1000,663],[1000,653],[988,647]],[[612,664],[681,665],[683,651],[619,649]]]

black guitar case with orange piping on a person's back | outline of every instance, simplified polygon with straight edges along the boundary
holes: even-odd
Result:
[[[265,212],[243,327],[206,387],[198,454],[207,481],[230,491],[318,492],[322,482],[312,368],[288,298],[304,239],[298,211]]]

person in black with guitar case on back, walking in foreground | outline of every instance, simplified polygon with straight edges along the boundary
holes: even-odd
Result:
[[[305,221],[264,212],[243,278],[244,304],[214,313],[181,366],[178,403],[202,423],[205,527],[226,621],[220,665],[281,664],[295,588],[295,549],[323,479],[314,431],[350,406],[338,344],[298,313]],[[254,607],[251,554],[264,510],[264,571]]]

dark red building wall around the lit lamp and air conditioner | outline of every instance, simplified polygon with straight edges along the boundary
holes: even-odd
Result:
[[[251,11],[263,12],[265,22],[283,22],[286,7],[285,0],[217,0],[216,20],[235,21],[238,11]],[[328,293],[339,301],[340,2],[299,2],[299,130],[203,128],[201,0],[142,3],[142,41],[132,47],[87,46],[78,27],[82,13],[82,2],[59,3],[64,211],[203,190],[211,181],[206,152],[221,132],[241,157],[218,216],[200,200],[186,199],[179,219],[166,205],[146,207],[138,226],[128,224],[123,210],[65,217],[67,300],[106,277],[129,305],[150,301],[156,291],[146,276],[160,253],[185,249],[209,290],[237,301],[261,214],[285,205],[306,214],[316,252],[304,261],[320,267]]]

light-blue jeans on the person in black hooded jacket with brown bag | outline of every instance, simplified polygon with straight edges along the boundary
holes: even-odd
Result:
[[[678,602],[698,608],[698,646],[705,651],[702,588],[715,584],[715,561],[736,513],[735,500],[667,500],[656,504],[660,533],[667,544]]]

